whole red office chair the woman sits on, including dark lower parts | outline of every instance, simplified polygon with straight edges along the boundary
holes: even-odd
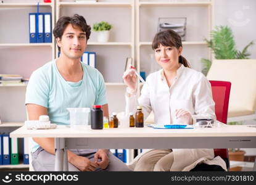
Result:
[[[215,102],[215,115],[217,120],[221,123],[226,124],[226,120],[228,118],[228,102],[229,102],[229,94],[231,89],[231,83],[229,81],[212,81],[210,80],[210,84],[212,86],[212,97]],[[229,158],[228,158],[228,150],[227,149],[214,149],[214,155],[217,157],[218,155],[223,158],[226,162],[226,168],[229,170]],[[201,166],[200,166],[201,165]],[[207,167],[205,164],[200,164],[192,171],[218,171],[220,168],[213,168],[212,170]]]

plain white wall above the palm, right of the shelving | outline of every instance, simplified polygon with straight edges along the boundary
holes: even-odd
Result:
[[[231,27],[240,51],[250,41],[256,42],[256,1],[255,0],[215,0],[214,25]],[[250,58],[256,59],[256,43],[250,47]]]

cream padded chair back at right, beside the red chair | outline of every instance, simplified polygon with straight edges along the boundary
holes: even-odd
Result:
[[[213,60],[208,80],[230,81],[228,117],[254,114],[256,110],[256,59]]]

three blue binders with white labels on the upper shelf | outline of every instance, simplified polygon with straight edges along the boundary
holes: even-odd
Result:
[[[30,43],[52,43],[52,14],[29,14]]]

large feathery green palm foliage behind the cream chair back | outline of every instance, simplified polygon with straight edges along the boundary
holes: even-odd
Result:
[[[248,47],[254,44],[250,41],[242,51],[236,49],[236,43],[231,28],[228,26],[217,26],[211,31],[211,39],[204,39],[207,46],[212,49],[215,59],[249,59],[250,53],[247,52]],[[206,76],[212,61],[209,59],[201,60],[203,69],[202,73]]]

